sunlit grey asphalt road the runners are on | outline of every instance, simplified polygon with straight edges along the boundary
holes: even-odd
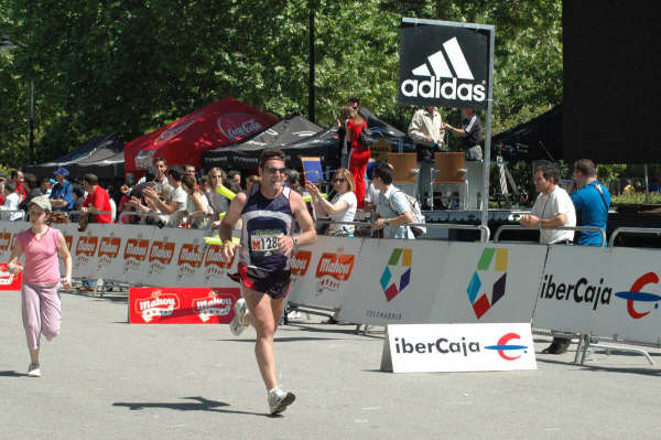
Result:
[[[29,364],[20,294],[0,294],[0,439],[658,439],[658,367],[640,356],[538,355],[538,371],[390,374],[382,333],[303,315],[281,328],[268,417],[253,331],[129,325],[126,299],[64,293],[62,334]],[[548,337],[538,337],[539,352]],[[575,348],[575,345],[572,346]],[[661,361],[661,351],[652,350]]]

